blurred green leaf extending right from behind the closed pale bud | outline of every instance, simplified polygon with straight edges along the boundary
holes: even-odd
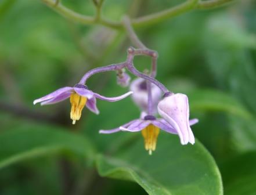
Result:
[[[190,93],[189,104],[191,112],[225,111],[243,118],[251,118],[251,114],[236,98],[221,91],[211,89],[197,89]]]

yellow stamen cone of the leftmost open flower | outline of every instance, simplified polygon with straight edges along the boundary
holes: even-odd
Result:
[[[75,124],[75,121],[80,120],[82,109],[86,104],[87,98],[78,95],[77,93],[72,93],[70,95],[71,111],[70,118],[73,120],[72,124]]]

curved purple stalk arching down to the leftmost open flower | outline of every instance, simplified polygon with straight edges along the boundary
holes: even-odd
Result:
[[[98,68],[93,68],[92,70],[88,71],[80,80],[79,84],[85,84],[86,80],[91,77],[93,74],[103,73],[106,71],[114,71],[120,70],[126,66],[126,62],[118,63],[118,64],[110,64],[109,66],[103,66]]]

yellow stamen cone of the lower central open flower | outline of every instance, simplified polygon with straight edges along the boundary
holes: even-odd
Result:
[[[160,129],[152,124],[148,125],[145,129],[142,129],[142,136],[145,140],[145,149],[149,150],[149,155],[152,151],[156,150],[157,136]]]

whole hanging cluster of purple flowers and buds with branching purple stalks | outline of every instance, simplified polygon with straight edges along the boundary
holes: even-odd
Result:
[[[189,120],[189,102],[188,97],[182,93],[172,93],[154,77],[156,75],[156,64],[153,63],[152,73],[150,75],[142,74],[133,64],[134,56],[146,55],[152,56],[153,62],[156,62],[157,53],[148,49],[128,49],[127,60],[119,64],[111,64],[105,67],[95,68],[88,71],[74,87],[66,86],[48,95],[34,100],[34,104],[41,102],[41,105],[54,104],[70,98],[71,111],[70,118],[72,123],[80,120],[82,109],[86,106],[95,114],[99,114],[96,106],[96,99],[115,102],[132,95],[132,100],[139,107],[142,114],[139,118],[121,125],[118,128],[110,130],[100,130],[99,133],[116,133],[120,131],[138,132],[141,131],[145,140],[145,149],[152,154],[156,150],[157,137],[160,129],[179,136],[182,145],[188,143],[194,144],[194,135],[190,128],[198,122],[196,118]],[[131,78],[125,73],[124,68],[139,77],[131,82],[129,92],[107,98],[88,89],[85,85],[91,75],[105,71],[117,72],[117,84],[129,86]],[[162,95],[163,94],[163,95]],[[162,98],[163,97],[163,98]],[[157,114],[160,118],[157,118]]]

